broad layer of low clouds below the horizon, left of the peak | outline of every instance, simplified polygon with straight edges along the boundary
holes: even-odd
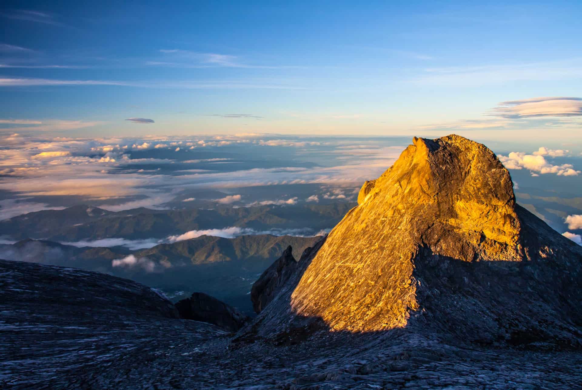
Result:
[[[151,123],[149,118],[129,119]],[[0,119],[0,128],[15,124],[15,120]],[[304,202],[303,198],[293,200],[291,191],[268,201],[238,188],[298,184],[356,187],[381,174],[402,152],[403,146],[390,145],[395,141],[383,142],[376,145],[377,140],[363,139],[357,141],[361,145],[354,145],[352,139],[254,133],[140,138],[1,133],[0,192],[4,201],[8,199],[15,207],[0,206],[0,219],[70,205],[72,196],[76,202],[114,211],[167,209],[175,207],[178,199],[193,198],[182,195],[193,189],[228,189],[223,197],[196,196],[198,201],[215,199],[219,205]],[[264,158],[258,160],[257,155]],[[321,158],[327,161],[314,162]],[[280,159],[289,166],[280,166]]]

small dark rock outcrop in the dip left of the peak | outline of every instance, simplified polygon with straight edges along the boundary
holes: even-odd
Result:
[[[181,318],[208,322],[232,332],[238,331],[250,321],[236,308],[204,293],[193,293],[190,298],[176,303],[176,308]]]

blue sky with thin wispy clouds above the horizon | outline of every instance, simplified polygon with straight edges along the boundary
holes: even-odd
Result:
[[[4,131],[582,137],[580,2],[1,7]]]

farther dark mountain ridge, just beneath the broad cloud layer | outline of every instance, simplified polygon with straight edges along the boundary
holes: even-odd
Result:
[[[150,210],[111,212],[78,205],[63,210],[43,210],[0,221],[0,236],[14,240],[36,238],[50,241],[102,238],[165,238],[191,230],[250,228],[257,231],[304,229],[312,234],[335,226],[356,203],[331,205],[257,206],[216,209]]]

